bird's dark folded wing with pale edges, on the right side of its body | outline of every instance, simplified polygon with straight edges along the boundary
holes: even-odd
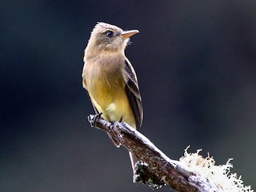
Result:
[[[142,109],[142,97],[138,89],[138,80],[134,71],[134,67],[130,64],[130,61],[126,58],[126,94],[130,101],[130,106],[134,112],[134,118],[136,122],[136,128],[142,126],[143,109]]]

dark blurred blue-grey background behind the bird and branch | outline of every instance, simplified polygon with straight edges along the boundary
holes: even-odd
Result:
[[[0,22],[1,191],[150,191],[87,122],[82,58],[96,22],[140,30],[126,56],[142,133],[173,159],[189,145],[218,165],[234,158],[255,189],[255,1],[2,1]]]

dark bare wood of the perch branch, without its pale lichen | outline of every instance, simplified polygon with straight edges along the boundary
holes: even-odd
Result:
[[[88,121],[91,126],[110,133],[122,146],[126,147],[127,150],[130,150],[130,152],[137,156],[139,162],[136,173],[138,175],[135,176],[135,182],[149,182],[151,186],[166,184],[170,186],[170,188],[184,192],[234,191],[232,190],[234,188],[225,190],[222,186],[217,185],[216,182],[206,178],[204,174],[200,174],[200,172],[191,169],[189,163],[186,162],[187,159],[175,161],[168,158],[166,154],[162,153],[161,150],[154,146],[148,138],[137,130],[134,130],[134,128],[126,124],[126,122],[106,122],[100,118],[100,115],[90,115]],[[188,156],[187,152],[186,155]],[[191,157],[193,155],[191,155]],[[195,162],[198,160],[201,161],[202,156],[199,156],[198,153],[196,155]],[[213,159],[206,158],[206,162],[203,162],[203,166],[205,166],[209,160],[213,162]],[[224,168],[228,170],[229,167]],[[198,167],[196,167],[196,169],[198,169]],[[247,190],[237,191],[253,191],[250,190],[250,186],[245,189]]]

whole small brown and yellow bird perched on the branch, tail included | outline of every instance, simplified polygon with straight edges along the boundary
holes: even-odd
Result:
[[[125,50],[130,44],[130,37],[138,33],[138,30],[122,30],[118,26],[98,22],[90,34],[82,69],[82,86],[95,113],[109,122],[126,122],[135,130],[142,126],[142,97],[137,75],[126,58]],[[108,135],[119,147],[120,142]],[[129,154],[134,170],[138,159]]]

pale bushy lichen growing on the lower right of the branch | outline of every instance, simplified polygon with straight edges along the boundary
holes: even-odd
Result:
[[[200,155],[200,151],[197,150],[196,153],[188,153],[188,146],[184,152],[184,156],[180,158],[180,162],[186,163],[186,166],[190,167],[190,170],[194,174],[200,174],[207,178],[214,185],[218,186],[218,189],[223,191],[232,192],[253,192],[250,186],[244,186],[241,176],[238,177],[237,174],[231,174],[230,168],[233,165],[230,163],[231,158],[226,162],[225,165],[216,166],[213,157],[203,158]]]

